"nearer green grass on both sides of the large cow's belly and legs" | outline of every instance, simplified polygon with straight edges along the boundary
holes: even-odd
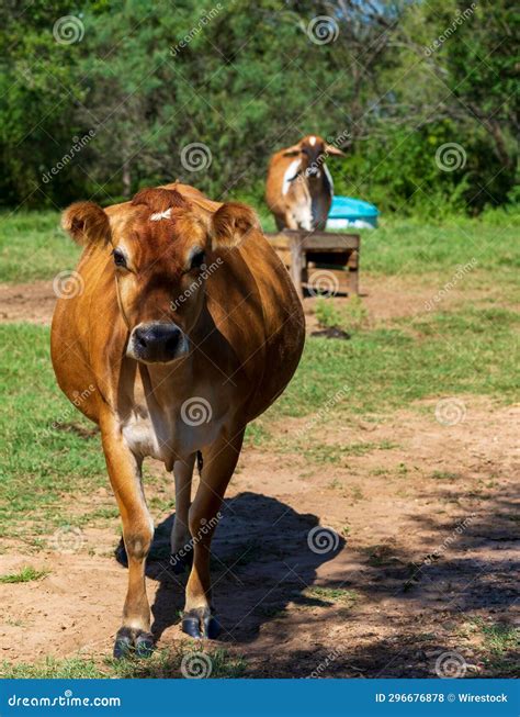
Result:
[[[484,394],[512,402],[518,397],[518,325],[519,316],[510,310],[467,304],[452,313],[360,329],[348,341],[309,338],[291,385],[251,427],[248,440],[279,452],[297,450],[315,463],[338,463],[392,448],[371,442],[328,446],[313,438],[316,428],[338,416],[381,415],[432,396],[462,395],[467,401],[471,394]],[[31,519],[35,540],[58,526],[77,524],[69,514],[74,504],[64,495],[88,495],[106,485],[105,466],[97,435],[64,429],[89,424],[56,386],[48,329],[2,325],[0,343],[0,535],[26,537],[24,522]],[[270,423],[284,416],[306,418],[308,430],[302,437],[271,433]],[[89,520],[95,517],[94,512]]]

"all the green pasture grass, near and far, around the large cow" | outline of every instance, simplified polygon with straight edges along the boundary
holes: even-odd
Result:
[[[78,249],[57,225],[53,212],[1,216],[0,280],[49,278],[72,266]],[[339,309],[326,299],[318,301],[319,321],[344,326],[350,339],[307,339],[294,380],[248,427],[247,445],[280,453],[297,451],[315,463],[338,463],[388,446],[324,445],[319,432],[327,424],[344,424],[350,417],[370,421],[414,406],[429,411],[433,421],[433,410],[421,408],[418,402],[442,396],[515,401],[519,326],[512,311],[515,239],[513,227],[476,221],[444,228],[388,222],[363,233],[363,272],[373,277],[404,272],[417,280],[418,288],[431,287],[432,295],[459,265],[472,257],[478,265],[457,283],[462,299],[456,305],[449,310],[441,302],[411,318],[371,324],[363,300],[350,299]],[[464,292],[475,287],[479,299],[464,299]],[[106,508],[90,509],[83,519],[71,514],[70,496],[89,495],[108,479],[92,425],[56,386],[48,334],[41,326],[0,325],[0,535],[34,545],[42,545],[59,526],[113,516]],[[303,434],[275,428],[286,416],[303,419]]]

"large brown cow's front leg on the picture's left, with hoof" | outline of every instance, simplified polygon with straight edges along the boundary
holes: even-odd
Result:
[[[114,657],[122,658],[134,650],[138,657],[146,657],[154,647],[145,584],[146,558],[154,538],[154,524],[143,492],[142,461],[129,450],[117,426],[109,422],[101,430],[128,557],[128,591],[123,609],[123,625],[115,638]]]

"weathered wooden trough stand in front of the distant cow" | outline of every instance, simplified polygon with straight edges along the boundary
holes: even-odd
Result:
[[[334,232],[302,232],[284,229],[265,234],[283,264],[289,269],[298,296],[303,290],[318,293],[359,294],[359,234]]]

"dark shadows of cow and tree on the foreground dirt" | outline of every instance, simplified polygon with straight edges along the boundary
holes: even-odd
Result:
[[[436,676],[437,659],[453,650],[466,676],[512,676],[512,642],[495,638],[509,635],[518,600],[515,513],[512,496],[497,491],[460,517],[412,515],[416,537],[351,547],[337,536],[319,552],[309,548],[315,515],[240,493],[225,502],[213,541],[219,645],[246,657],[245,676]],[[157,639],[184,600],[186,575],[168,564],[172,523],[158,526],[147,568],[159,582]],[[493,638],[486,649],[464,635],[472,620]]]

